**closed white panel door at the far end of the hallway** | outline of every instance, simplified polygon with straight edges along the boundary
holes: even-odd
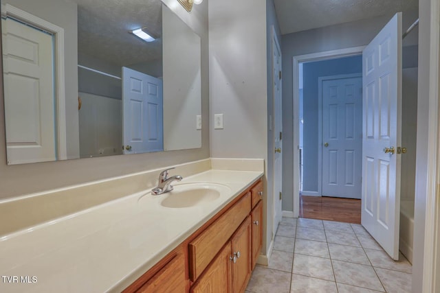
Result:
[[[322,80],[322,196],[361,198],[362,77]]]

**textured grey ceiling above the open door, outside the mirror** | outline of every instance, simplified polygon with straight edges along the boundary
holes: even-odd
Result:
[[[281,34],[418,8],[418,0],[274,0]]]

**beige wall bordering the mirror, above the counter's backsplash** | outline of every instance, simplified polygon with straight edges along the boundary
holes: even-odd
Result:
[[[21,0],[23,2],[33,2]],[[62,2],[62,1],[58,1]],[[64,2],[64,1],[63,1]],[[203,1],[195,5],[192,13],[183,12],[183,8],[172,5],[170,8],[179,15],[184,16],[184,21],[201,36],[201,93],[202,93],[202,148],[195,150],[181,150],[175,152],[159,152],[151,154],[132,154],[111,156],[105,158],[78,159],[59,162],[34,163],[27,165],[6,165],[5,151],[5,126],[3,95],[0,96],[0,198],[11,198],[36,191],[45,191],[58,187],[65,187],[78,183],[86,183],[102,178],[131,174],[146,169],[175,165],[188,161],[195,161],[209,157],[209,84],[208,84],[208,4]],[[45,6],[45,10],[50,6]],[[56,15],[62,19],[64,15]],[[76,83],[76,82],[73,82]],[[3,80],[1,80],[1,93],[3,93]],[[67,82],[66,86],[76,87]],[[75,88],[76,89],[76,88]],[[76,89],[77,91],[77,89]]]

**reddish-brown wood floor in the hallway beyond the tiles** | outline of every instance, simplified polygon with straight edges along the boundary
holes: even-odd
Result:
[[[360,224],[360,200],[300,196],[300,218]]]

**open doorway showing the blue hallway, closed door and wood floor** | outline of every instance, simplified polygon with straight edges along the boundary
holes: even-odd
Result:
[[[302,218],[360,224],[362,56],[299,64]]]

